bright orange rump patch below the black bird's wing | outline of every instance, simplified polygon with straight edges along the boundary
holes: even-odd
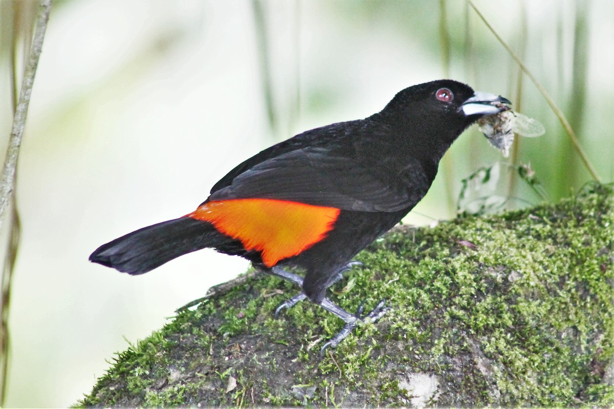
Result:
[[[326,237],[340,210],[275,199],[231,199],[208,202],[187,215],[208,221],[219,232],[258,250],[273,267]]]

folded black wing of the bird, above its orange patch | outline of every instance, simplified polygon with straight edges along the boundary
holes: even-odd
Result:
[[[402,170],[391,171],[380,155],[369,151],[365,136],[377,145],[374,132],[381,131],[364,120],[308,131],[308,140],[301,141],[301,134],[285,147],[275,145],[233,169],[208,200],[280,199],[362,212],[413,207],[430,183],[421,180],[424,172],[419,172],[418,162],[406,158]],[[418,180],[411,180],[412,175]]]

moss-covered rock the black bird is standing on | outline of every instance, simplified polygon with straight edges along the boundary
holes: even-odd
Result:
[[[323,358],[343,323],[248,274],[119,354],[79,406],[614,405],[614,199],[400,226],[332,291],[392,310]]]

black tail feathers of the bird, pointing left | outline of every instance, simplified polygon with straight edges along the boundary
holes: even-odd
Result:
[[[98,247],[90,261],[129,274],[142,274],[201,248],[220,248],[234,240],[212,224],[190,217],[143,227]]]

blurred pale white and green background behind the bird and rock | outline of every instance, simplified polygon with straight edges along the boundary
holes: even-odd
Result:
[[[3,152],[17,4],[36,10],[0,0]],[[611,181],[614,1],[475,4]],[[406,223],[454,217],[461,180],[497,161],[530,162],[551,201],[591,180],[543,97],[465,1],[56,1],[17,175],[6,406],[75,403],[127,342],[247,268],[203,250],[129,277],[90,264],[96,247],[191,212],[272,143],[367,117],[406,86],[443,77],[507,96],[547,132],[521,139],[510,159],[475,128],[465,132]],[[509,206],[541,200],[515,186]]]

